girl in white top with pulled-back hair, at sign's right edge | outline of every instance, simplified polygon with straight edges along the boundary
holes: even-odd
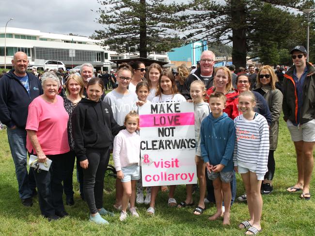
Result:
[[[200,185],[200,197],[198,206],[194,209],[195,215],[200,215],[205,211],[205,189],[206,189],[206,180],[205,180],[205,162],[201,157],[200,149],[200,126],[201,121],[206,118],[210,113],[209,104],[204,102],[205,96],[205,84],[201,80],[195,80],[190,85],[190,97],[194,103],[194,116],[195,116],[195,137],[197,141],[196,146],[196,155],[195,162],[197,165],[197,176]],[[180,202],[177,207],[186,207],[192,206],[192,184],[186,185],[186,200]]]

